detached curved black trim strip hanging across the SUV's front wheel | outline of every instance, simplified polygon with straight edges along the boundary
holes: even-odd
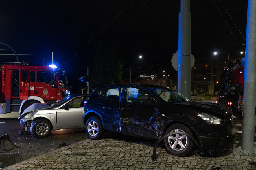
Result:
[[[155,164],[157,163],[157,160],[156,160],[156,148],[158,146],[158,144],[166,137],[170,136],[170,135],[174,135],[174,134],[182,134],[182,135],[186,135],[187,137],[189,137],[195,144],[198,148],[201,148],[201,146],[199,145],[199,143],[196,141],[196,139],[194,139],[194,137],[192,137],[192,135],[189,135],[188,133],[185,133],[185,132],[171,132],[171,133],[168,133],[167,135],[164,135],[163,137],[161,137],[160,139],[158,139],[158,141],[156,141],[156,144],[154,145],[154,148],[153,148],[153,155],[151,155],[151,163],[152,164]]]

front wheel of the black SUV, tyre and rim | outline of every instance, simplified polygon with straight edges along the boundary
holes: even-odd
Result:
[[[171,132],[185,132],[192,135],[191,129],[183,124],[173,124],[170,126],[166,134]],[[189,156],[195,150],[195,143],[186,135],[174,134],[164,139],[165,147],[167,150],[175,156]]]

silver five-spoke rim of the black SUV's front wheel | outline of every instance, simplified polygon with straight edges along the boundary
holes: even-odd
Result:
[[[171,132],[184,132],[181,129],[174,129]],[[173,150],[181,151],[187,146],[187,136],[182,134],[174,134],[168,136],[169,145]]]

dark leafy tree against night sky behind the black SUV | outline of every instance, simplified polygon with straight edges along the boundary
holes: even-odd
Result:
[[[124,54],[113,42],[98,42],[94,59],[97,74],[117,84],[122,82]]]

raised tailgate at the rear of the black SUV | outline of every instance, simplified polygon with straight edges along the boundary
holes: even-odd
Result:
[[[79,80],[81,80],[81,82],[86,82],[87,84],[89,84],[92,90],[94,90],[96,87],[115,84],[105,77],[95,75],[86,75],[84,77],[79,78]]]

